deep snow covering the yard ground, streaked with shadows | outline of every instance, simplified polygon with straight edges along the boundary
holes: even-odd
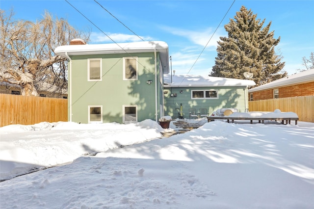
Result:
[[[0,208],[313,209],[313,123],[191,122],[2,127]]]

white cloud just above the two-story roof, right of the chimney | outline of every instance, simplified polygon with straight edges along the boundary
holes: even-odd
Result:
[[[142,39],[140,39],[139,37],[137,37],[136,35],[130,35],[130,34],[122,34],[122,33],[106,33],[113,41],[118,42],[118,43],[122,43],[122,42],[136,42],[136,41],[150,41],[152,40],[151,37],[149,36],[140,36]],[[104,33],[102,32],[92,32],[90,35],[90,42],[92,44],[96,44],[96,43],[112,43],[112,40],[106,36]]]

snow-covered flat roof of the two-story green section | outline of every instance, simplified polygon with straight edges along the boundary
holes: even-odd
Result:
[[[159,52],[164,74],[169,73],[168,44],[163,41],[141,41],[113,44],[84,44],[59,46],[54,53],[67,57],[73,55],[114,54],[134,52]]]

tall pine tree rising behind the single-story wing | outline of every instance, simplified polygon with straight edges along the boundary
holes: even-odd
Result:
[[[287,76],[280,73],[285,62],[282,56],[275,54],[279,44],[274,31],[269,32],[271,22],[263,27],[257,14],[244,6],[236,12],[235,19],[225,25],[228,37],[220,37],[215,65],[210,76],[244,79],[243,73],[253,73],[257,86]]]

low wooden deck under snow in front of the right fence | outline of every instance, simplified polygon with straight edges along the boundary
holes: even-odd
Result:
[[[295,121],[295,125],[298,124],[298,120],[299,118],[284,118],[284,117],[277,117],[277,118],[263,118],[263,117],[256,117],[256,118],[252,118],[252,117],[228,117],[228,116],[223,116],[223,117],[216,117],[216,116],[208,116],[207,117],[207,121],[210,122],[212,120],[227,120],[228,123],[230,123],[230,121],[232,123],[235,122],[235,120],[249,120],[251,122],[251,124],[253,124],[253,121],[259,121],[259,123],[262,122],[262,124],[264,123],[265,120],[272,120],[272,121],[281,121],[281,124],[291,124],[291,120]]]

